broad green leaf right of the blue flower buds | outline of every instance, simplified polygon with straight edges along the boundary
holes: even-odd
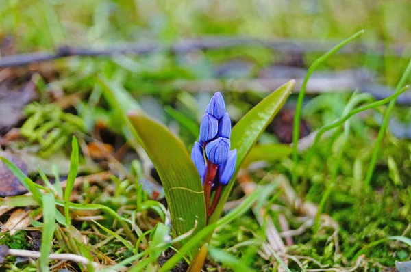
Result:
[[[225,187],[221,194],[220,202],[216,206],[216,210],[208,220],[209,223],[216,222],[223,210],[223,206],[231,193],[234,185],[236,174],[242,165],[245,157],[256,143],[258,137],[265,130],[273,120],[275,114],[281,109],[282,105],[286,102],[288,96],[290,96],[292,89],[295,86],[295,80],[288,81],[288,83],[279,87],[275,92],[272,92],[258,103],[253,109],[251,109],[240,121],[234,126],[232,130],[231,146],[232,149],[237,149],[237,164],[236,172],[233,175],[229,185]]]

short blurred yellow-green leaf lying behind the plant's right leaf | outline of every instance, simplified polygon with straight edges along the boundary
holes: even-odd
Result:
[[[288,144],[256,144],[245,157],[242,167],[247,167],[255,161],[275,161],[288,157],[292,152]]]

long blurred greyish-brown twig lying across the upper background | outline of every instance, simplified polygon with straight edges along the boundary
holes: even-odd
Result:
[[[181,40],[176,44],[160,45],[155,42],[147,44],[124,44],[108,49],[84,49],[75,48],[72,46],[60,46],[55,52],[36,52],[25,53],[20,55],[10,55],[0,59],[0,68],[13,66],[23,66],[35,62],[45,62],[62,57],[82,56],[95,57],[99,55],[116,55],[116,54],[149,54],[156,52],[169,51],[172,53],[187,53],[190,51],[207,50],[207,49],[225,49],[235,46],[264,46],[274,49],[281,53],[310,53],[310,52],[326,52],[329,51],[337,42],[318,41],[301,41],[301,40],[264,40],[250,37],[203,37],[192,40]],[[360,43],[351,43],[345,46],[338,53],[367,53],[369,51],[376,55],[384,55],[386,53],[408,57],[404,44],[390,44],[388,50],[384,43],[375,43],[372,46],[366,46]]]

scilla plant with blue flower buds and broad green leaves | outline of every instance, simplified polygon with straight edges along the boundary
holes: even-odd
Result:
[[[295,86],[292,80],[279,87],[233,128],[223,96],[216,92],[203,116],[199,142],[194,144],[190,157],[186,146],[166,126],[139,110],[125,115],[127,109],[119,102],[115,89],[103,79],[100,82],[112,109],[123,116],[123,133],[145,148],[157,169],[169,206],[173,237],[188,232],[195,236],[208,225],[216,226],[242,162]],[[201,243],[208,243],[210,236],[204,237]],[[174,247],[179,249],[188,243],[190,238]],[[188,258],[195,258],[201,243],[190,247]]]

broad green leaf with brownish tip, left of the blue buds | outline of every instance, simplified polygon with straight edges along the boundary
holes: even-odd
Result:
[[[206,226],[206,200],[200,176],[184,144],[144,113],[134,111],[128,116],[162,180],[173,236],[191,230],[195,221],[197,230],[201,230]]]

